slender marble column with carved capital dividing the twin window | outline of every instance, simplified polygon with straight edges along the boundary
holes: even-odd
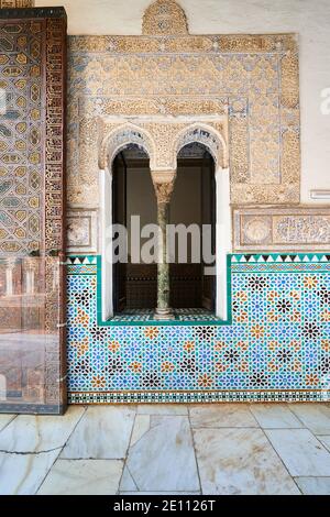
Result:
[[[169,307],[169,264],[167,262],[167,224],[169,224],[169,201],[174,190],[176,170],[152,172],[157,197],[158,264],[157,264],[157,309],[156,320],[174,319]]]

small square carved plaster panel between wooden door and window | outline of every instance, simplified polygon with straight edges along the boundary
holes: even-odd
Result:
[[[67,213],[67,252],[97,253],[98,251],[98,212],[97,210],[77,209]]]

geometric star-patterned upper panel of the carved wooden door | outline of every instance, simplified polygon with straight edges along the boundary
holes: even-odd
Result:
[[[0,25],[0,254],[41,241],[43,32],[41,22]]]

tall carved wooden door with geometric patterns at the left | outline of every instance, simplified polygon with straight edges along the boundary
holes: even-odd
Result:
[[[63,8],[0,9],[0,413],[66,407]]]

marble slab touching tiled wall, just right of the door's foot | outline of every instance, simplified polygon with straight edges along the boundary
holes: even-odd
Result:
[[[121,460],[127,455],[136,409],[90,406],[70,436],[65,460]]]

